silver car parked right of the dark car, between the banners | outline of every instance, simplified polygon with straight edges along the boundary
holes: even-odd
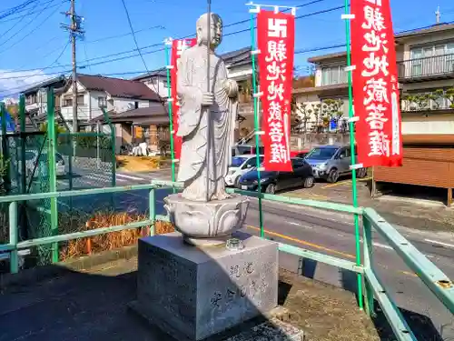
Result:
[[[340,176],[351,173],[350,145],[320,145],[316,146],[304,157],[312,166],[313,176],[335,183]],[[367,169],[360,168],[356,175],[367,176]]]

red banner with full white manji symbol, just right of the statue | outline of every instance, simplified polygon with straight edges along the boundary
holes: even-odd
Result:
[[[295,50],[295,17],[260,11],[257,15],[262,136],[266,171],[291,172],[291,81]]]

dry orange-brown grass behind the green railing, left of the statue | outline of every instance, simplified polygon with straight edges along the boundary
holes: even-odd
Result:
[[[66,215],[60,217],[60,226],[64,226],[64,231],[61,234],[74,231],[87,231],[96,228],[120,226],[131,224],[133,222],[143,221],[148,219],[148,216],[114,213],[114,212],[98,212],[94,216],[84,215]],[[173,225],[166,222],[156,222],[155,233],[158,235],[173,232]],[[65,260],[78,256],[91,255],[106,250],[113,250],[123,246],[131,246],[137,242],[141,236],[148,235],[150,226],[112,232],[100,236],[92,236],[87,238],[75,239],[68,241],[60,248],[60,259]]]

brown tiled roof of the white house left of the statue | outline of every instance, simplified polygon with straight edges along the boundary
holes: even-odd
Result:
[[[138,81],[104,77],[103,75],[77,75],[77,80],[87,90],[105,91],[113,97],[160,100],[159,95],[147,85]]]

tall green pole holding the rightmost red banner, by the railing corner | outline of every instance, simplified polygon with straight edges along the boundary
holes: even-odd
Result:
[[[349,0],[345,0],[344,5],[345,15],[350,15],[349,9]],[[351,50],[350,50],[350,19],[345,19],[345,37],[346,37],[346,47],[347,47],[347,71],[348,83],[349,83],[349,117],[350,117],[350,160],[351,165],[356,165],[356,155],[355,155],[355,126],[351,118],[353,118],[353,92],[352,92],[352,70],[351,66]],[[352,167],[351,169],[351,196],[353,197],[353,206],[358,207],[358,193],[356,190],[356,169]],[[356,265],[361,265],[361,254],[360,254],[360,218],[357,214],[354,214],[355,222],[355,246],[356,246]],[[363,299],[362,299],[362,276],[357,274],[358,280],[358,306],[360,309],[363,309]]]

